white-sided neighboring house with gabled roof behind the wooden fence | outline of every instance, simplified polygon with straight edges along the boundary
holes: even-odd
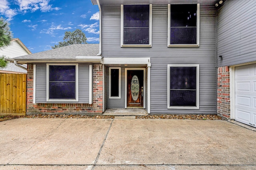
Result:
[[[18,56],[32,54],[29,49],[18,38],[12,39],[10,45],[0,48],[0,56],[4,55],[7,59]],[[26,65],[23,67],[26,68]],[[27,71],[16,66],[13,63],[8,63],[5,68],[0,69],[1,73],[26,73]]]

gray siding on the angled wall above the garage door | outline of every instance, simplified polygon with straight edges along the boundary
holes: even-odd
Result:
[[[256,61],[255,11],[255,0],[228,0],[218,10],[218,66]]]

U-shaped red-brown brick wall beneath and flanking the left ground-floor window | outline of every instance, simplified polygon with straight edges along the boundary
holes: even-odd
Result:
[[[102,113],[103,106],[103,66],[93,65],[93,103],[92,104],[33,104],[33,64],[28,64],[27,73],[27,111],[26,114],[83,114]]]

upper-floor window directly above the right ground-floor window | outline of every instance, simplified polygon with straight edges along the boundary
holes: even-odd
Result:
[[[168,47],[199,47],[199,4],[168,4]]]

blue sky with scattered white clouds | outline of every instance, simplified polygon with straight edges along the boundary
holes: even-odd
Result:
[[[88,43],[99,43],[98,11],[91,0],[0,0],[0,16],[32,53],[52,49],[65,31],[75,29],[85,33]]]

